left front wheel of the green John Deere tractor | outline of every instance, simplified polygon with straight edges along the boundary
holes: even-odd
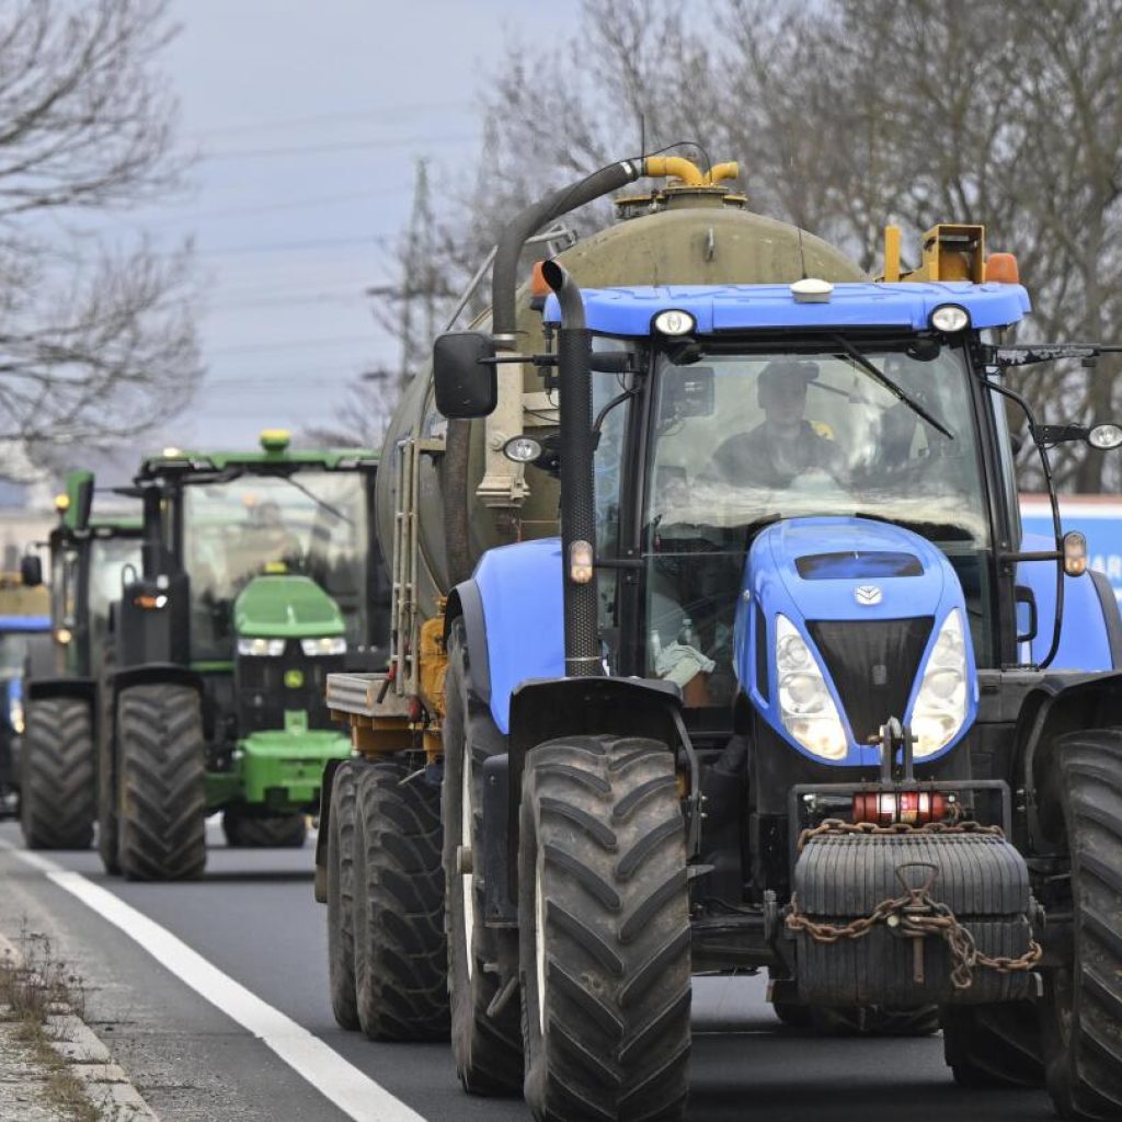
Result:
[[[136,881],[183,881],[206,864],[205,745],[199,693],[131,686],[118,696],[120,866]]]

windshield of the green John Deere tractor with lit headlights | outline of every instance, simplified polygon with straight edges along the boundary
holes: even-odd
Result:
[[[192,657],[229,659],[233,600],[264,572],[311,577],[334,599],[351,646],[366,642],[366,476],[301,471],[184,488]]]

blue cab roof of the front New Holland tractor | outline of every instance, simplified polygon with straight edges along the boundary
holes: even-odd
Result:
[[[699,334],[753,328],[901,328],[923,331],[940,304],[959,304],[975,328],[1017,323],[1032,310],[1019,284],[971,284],[965,280],[873,280],[834,285],[829,302],[798,303],[785,284],[643,285],[626,288],[585,288],[588,327],[613,335],[646,335],[659,312],[678,309],[697,320]],[[555,296],[545,304],[545,319],[561,321]]]

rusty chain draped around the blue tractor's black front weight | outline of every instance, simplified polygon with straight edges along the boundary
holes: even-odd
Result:
[[[820,826],[803,830],[799,837],[801,853],[808,842],[827,835],[914,835],[914,834],[985,834],[1004,837],[1000,826],[984,826],[981,822],[963,821],[955,825],[945,822],[928,822],[922,827],[895,822],[892,826],[877,826],[873,822],[843,822],[840,819],[828,818]],[[792,895],[791,909],[785,925],[790,931],[803,931],[815,942],[835,944],[843,939],[863,939],[879,925],[884,923],[895,934],[905,939],[921,940],[938,937],[947,944],[950,953],[950,981],[956,990],[968,990],[974,984],[974,971],[977,967],[996,971],[999,974],[1012,974],[1031,971],[1040,962],[1043,950],[1034,939],[1029,949],[1017,958],[1004,956],[991,957],[983,955],[974,941],[974,936],[957,919],[945,903],[932,899],[931,888],[938,875],[938,867],[925,862],[910,863],[911,867],[923,866],[931,870],[931,875],[919,886],[908,884],[901,865],[896,876],[904,886],[902,895],[882,900],[872,912],[848,923],[819,923],[799,911],[798,896]]]

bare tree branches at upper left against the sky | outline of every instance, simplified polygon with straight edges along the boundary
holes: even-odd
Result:
[[[130,436],[194,388],[190,247],[105,232],[181,182],[174,30],[166,0],[0,9],[0,440]]]

